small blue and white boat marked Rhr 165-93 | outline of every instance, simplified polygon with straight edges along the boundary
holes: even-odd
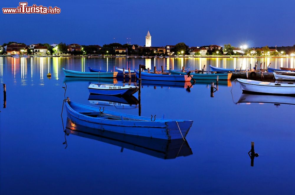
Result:
[[[132,95],[138,91],[137,86],[116,84],[90,84],[88,87],[89,93],[109,96]]]

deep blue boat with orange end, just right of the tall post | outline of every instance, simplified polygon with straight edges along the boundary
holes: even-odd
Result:
[[[139,78],[139,71],[135,71],[136,77]],[[141,72],[142,80],[150,80],[150,81],[174,81],[174,82],[190,82],[191,77],[188,75],[170,75],[170,74],[154,74]]]

